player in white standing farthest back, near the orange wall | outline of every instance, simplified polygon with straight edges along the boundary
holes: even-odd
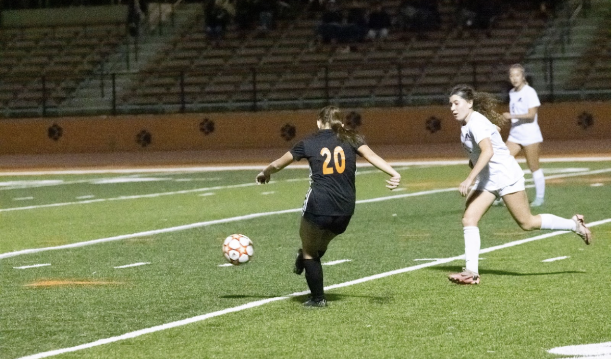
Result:
[[[529,86],[523,66],[518,63],[510,66],[509,78],[513,89],[510,90],[510,112],[504,112],[504,118],[511,120],[512,126],[506,145],[512,156],[523,150],[535,184],[535,199],[531,206],[537,207],[544,203],[545,189],[544,174],[540,169],[540,143],[543,139],[537,124],[540,99],[534,88]]]

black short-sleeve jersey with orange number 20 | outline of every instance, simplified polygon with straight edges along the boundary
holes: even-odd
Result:
[[[323,129],[298,142],[293,159],[310,164],[310,189],[302,211],[324,216],[350,216],[355,211],[357,148],[341,142],[331,129]]]

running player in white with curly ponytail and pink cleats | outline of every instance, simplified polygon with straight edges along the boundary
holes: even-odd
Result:
[[[564,219],[553,214],[531,214],[523,171],[499,134],[498,125],[504,125],[507,120],[493,110],[496,103],[493,96],[458,85],[450,92],[449,101],[453,117],[461,122],[461,143],[469,154],[472,169],[459,185],[460,194],[467,197],[461,219],[465,268],[461,273],[449,275],[449,280],[458,284],[480,283],[478,222],[499,197],[523,230],[570,230],[591,244],[591,231],[584,225],[584,216],[576,214]]]

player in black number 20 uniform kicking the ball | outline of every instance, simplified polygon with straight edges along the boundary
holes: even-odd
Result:
[[[272,173],[293,161],[305,158],[310,164],[310,189],[306,193],[300,222],[302,248],[297,252],[294,267],[296,274],[306,270],[311,298],[304,303],[305,306],[327,305],[321,257],[329,242],[346,230],[353,216],[357,155],[391,176],[387,188],[397,188],[401,179],[397,171],[365,144],[362,136],[344,128],[338,107],[321,109],[316,125],[318,132],[298,142],[256,177],[257,183],[268,183]]]

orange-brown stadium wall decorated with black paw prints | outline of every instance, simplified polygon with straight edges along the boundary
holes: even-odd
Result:
[[[506,111],[506,107],[499,111]],[[448,106],[355,112],[362,119],[359,132],[371,145],[459,140],[460,124],[452,118]],[[9,119],[0,121],[0,154],[290,148],[316,130],[317,113],[302,110]],[[592,123],[586,126],[589,116]],[[610,102],[543,104],[539,123],[545,141],[610,139]],[[502,132],[505,138],[507,128]]]

